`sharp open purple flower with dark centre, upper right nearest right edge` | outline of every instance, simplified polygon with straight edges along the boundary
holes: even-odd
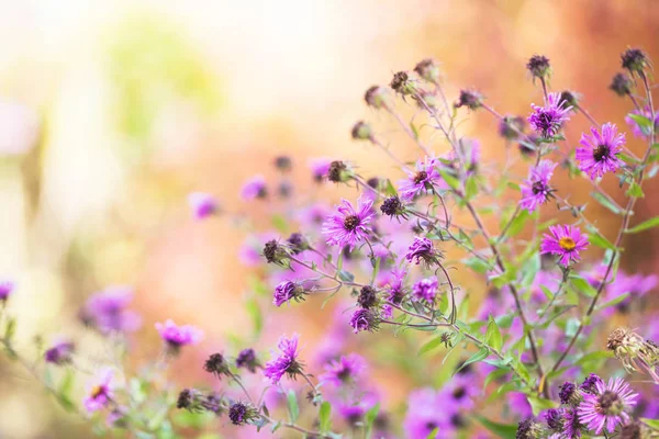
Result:
[[[606,172],[615,172],[624,165],[617,155],[625,145],[625,134],[618,134],[617,127],[612,123],[602,125],[602,133],[595,127],[591,128],[591,133],[581,134],[582,148],[577,148],[576,158],[579,169],[594,180]]]

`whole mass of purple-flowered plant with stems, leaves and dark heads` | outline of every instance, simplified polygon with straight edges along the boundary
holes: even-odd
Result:
[[[199,362],[220,391],[163,378],[163,361],[189,356],[197,349],[189,345],[201,340],[200,328],[167,320],[156,326],[167,353],[154,354],[158,367],[131,372],[122,362],[104,364],[121,372],[99,369],[77,401],[69,387],[43,379],[48,392],[91,417],[99,432],[144,438],[220,428],[230,429],[226,437],[267,430],[332,439],[659,437],[659,326],[644,302],[657,279],[622,268],[625,236],[659,225],[635,211],[644,183],[659,171],[651,61],[626,50],[627,72],[610,87],[628,101],[634,136],[600,124],[580,94],[551,91],[556,66],[546,56],[534,55],[526,67],[537,86],[526,117],[500,113],[468,87],[447,95],[432,58],[396,72],[389,87],[368,88],[373,119],[391,117],[416,157],[400,159],[375,123],[357,122],[353,139],[398,169],[373,177],[347,158],[311,160],[314,185],[349,193],[338,203],[291,191],[287,176],[297,162],[289,157],[273,159],[286,190],[263,176],[247,180],[236,196],[270,203],[277,233],[253,230],[258,248],[244,252],[252,262],[261,257],[258,294],[248,302],[254,340],[234,337],[233,350]],[[411,122],[404,112],[413,113]],[[495,170],[480,144],[459,132],[476,112],[492,119],[506,148],[520,146],[515,156],[506,149]],[[576,143],[570,130],[578,117],[590,127]],[[601,182],[615,178],[621,191],[608,193]],[[559,184],[567,179],[588,185],[591,202],[574,204]],[[282,207],[277,196],[298,207]],[[199,221],[228,215],[209,193],[188,201]],[[590,215],[594,204],[617,218],[612,236]],[[487,288],[458,283],[469,278]],[[0,282],[8,357],[40,379],[51,368],[69,368],[67,380],[81,374],[76,364],[85,352],[75,340],[43,350],[45,362],[35,365],[16,350],[7,308],[14,294],[20,288]],[[320,342],[277,334],[270,353],[249,346],[261,333],[261,313],[313,307],[315,299],[335,307]],[[127,341],[139,327],[131,300],[130,290],[108,289],[80,316],[100,336]],[[614,315],[634,329],[611,327]],[[411,379],[406,401],[384,396],[387,383],[370,374],[376,367]]]

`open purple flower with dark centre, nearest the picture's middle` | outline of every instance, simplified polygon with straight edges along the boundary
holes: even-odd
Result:
[[[347,200],[342,199],[340,202],[338,213],[330,215],[323,223],[322,233],[326,235],[328,245],[349,246],[351,250],[370,232],[369,225],[375,216],[371,209],[373,202],[367,200],[362,203],[359,199],[357,210]]]

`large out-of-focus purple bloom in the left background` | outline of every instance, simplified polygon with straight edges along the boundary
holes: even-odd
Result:
[[[87,300],[81,313],[82,319],[103,334],[135,331],[142,320],[136,313],[127,309],[132,301],[131,288],[107,288]]]

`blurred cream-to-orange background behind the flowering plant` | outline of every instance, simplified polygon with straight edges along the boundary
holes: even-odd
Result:
[[[313,185],[313,157],[394,177],[391,162],[351,142],[349,130],[367,119],[398,156],[416,158],[400,130],[361,97],[428,56],[442,61],[449,95],[474,87],[500,112],[526,114],[541,98],[524,64],[547,55],[554,89],[582,93],[597,121],[624,125],[629,103],[607,86],[629,45],[659,59],[659,2],[0,2],[0,277],[19,284],[11,303],[19,346],[36,334],[87,337],[76,318],[82,301],[129,284],[143,341],[155,346],[153,324],[168,317],[205,330],[204,345],[175,365],[181,385],[192,383],[204,352],[250,325],[253,270],[237,257],[244,225],[193,221],[190,191],[211,192],[226,211],[249,213],[267,229],[270,207],[244,203],[238,191],[255,173],[275,179],[278,155],[292,158],[298,193]],[[574,145],[587,127],[574,116],[568,142]],[[505,144],[488,114],[471,115],[461,130],[480,139],[487,159],[501,160]],[[629,137],[633,150],[644,148]],[[614,180],[606,187],[621,198]],[[659,214],[656,187],[645,189],[639,217]],[[587,200],[587,185],[570,189],[573,200]],[[601,229],[614,234],[618,219],[593,209]],[[625,241],[624,266],[656,271],[657,238]],[[317,303],[303,307],[269,309],[277,333],[267,333],[263,346],[291,330],[312,346],[326,319],[317,318]],[[138,350],[131,361],[153,354]],[[386,373],[373,369],[376,379]],[[416,379],[390,380],[389,394],[400,398]],[[0,395],[0,437],[89,435],[3,360]]]

